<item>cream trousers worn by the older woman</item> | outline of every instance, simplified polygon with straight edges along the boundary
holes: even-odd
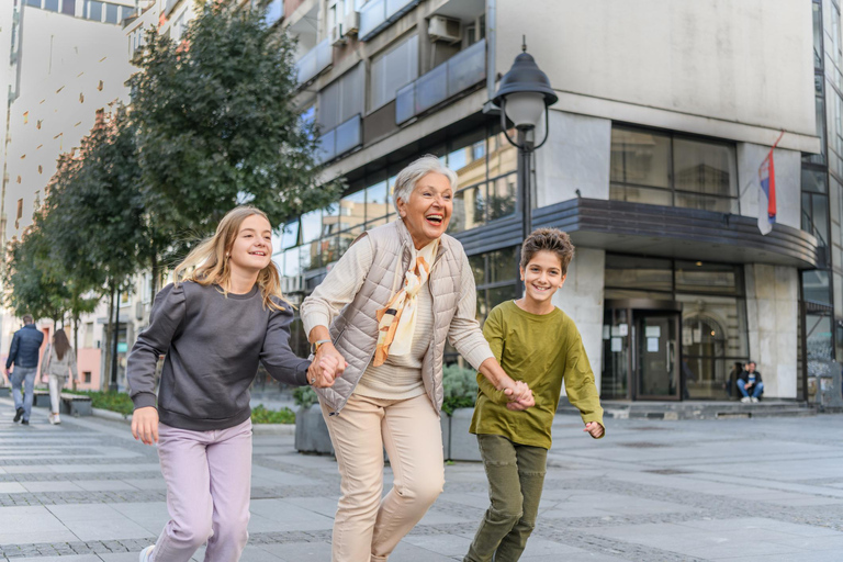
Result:
[[[426,394],[407,400],[351,395],[322,414],[341,476],[333,562],[382,562],[424,517],[445,485],[442,430]],[[393,484],[383,495],[383,449]]]

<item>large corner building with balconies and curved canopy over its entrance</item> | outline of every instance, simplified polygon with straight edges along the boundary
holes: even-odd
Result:
[[[726,400],[750,358],[767,396],[811,397],[812,366],[843,341],[835,0],[289,0],[282,13],[326,178],[348,183],[279,231],[292,297],[395,218],[395,176],[424,154],[458,173],[450,233],[479,318],[520,295],[517,151],[490,100],[526,35],[559,95],[531,222],[577,246],[555,303],[604,398]],[[757,173],[782,132],[762,236]]]

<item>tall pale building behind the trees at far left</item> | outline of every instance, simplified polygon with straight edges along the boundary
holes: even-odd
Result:
[[[3,2],[0,58],[8,83],[3,120],[2,243],[20,238],[48,195],[47,183],[63,153],[79,146],[98,114],[127,101],[132,66],[122,22],[135,13],[134,0],[12,0]],[[8,38],[9,43],[5,43]],[[9,61],[7,66],[5,61]],[[8,82],[7,82],[8,81]],[[3,113],[5,115],[5,113]],[[104,306],[103,306],[104,308]],[[105,316],[98,311],[97,315]],[[18,322],[4,314],[0,353],[9,351]],[[83,387],[99,387],[103,324],[86,318],[79,331],[79,373]],[[54,327],[44,324],[47,336]],[[72,339],[71,339],[72,341]]]

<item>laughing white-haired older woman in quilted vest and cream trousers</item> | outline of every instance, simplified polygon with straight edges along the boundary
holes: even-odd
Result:
[[[341,475],[334,562],[386,560],[442,492],[446,339],[512,409],[533,405],[484,339],[469,259],[445,234],[456,184],[434,156],[407,166],[393,195],[400,218],[355,240],[301,306],[315,360],[347,362],[316,389]],[[383,448],[394,482],[382,498]]]

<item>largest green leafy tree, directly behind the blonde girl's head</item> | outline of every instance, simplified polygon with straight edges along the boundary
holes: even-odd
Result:
[[[294,105],[294,41],[262,10],[199,10],[179,43],[148,34],[131,79],[147,211],[176,255],[237,204],[278,225],[340,188],[318,183],[317,132]]]

